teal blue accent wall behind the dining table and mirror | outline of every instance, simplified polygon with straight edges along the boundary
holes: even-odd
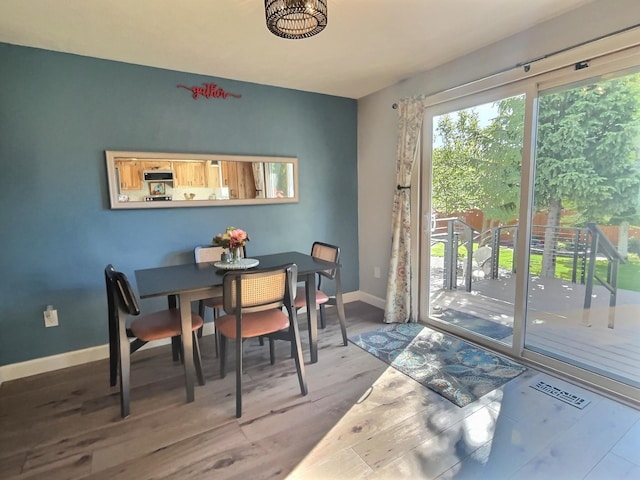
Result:
[[[191,262],[227,225],[255,255],[338,244],[358,289],[355,100],[8,44],[0,65],[0,365],[106,344],[108,263],[136,288],[134,270]],[[242,98],[177,88],[204,82]],[[300,202],[110,210],[105,150],[296,156]]]

